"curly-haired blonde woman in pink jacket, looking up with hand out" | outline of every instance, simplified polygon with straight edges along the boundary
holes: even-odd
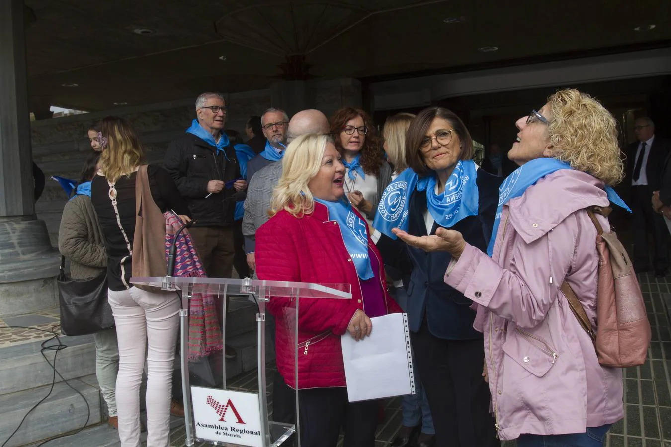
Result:
[[[499,437],[602,446],[623,418],[621,369],[599,365],[560,286],[569,283],[596,325],[597,231],[584,208],[626,208],[610,187],[623,176],[617,121],[588,95],[562,90],[516,125],[508,157],[521,167],[499,189],[489,256],[456,231],[397,235],[452,253],[445,281],[475,303]]]

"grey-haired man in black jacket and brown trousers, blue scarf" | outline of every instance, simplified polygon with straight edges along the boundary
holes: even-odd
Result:
[[[187,132],[168,145],[164,165],[197,219],[190,233],[207,275],[227,278],[233,273],[236,200],[244,198],[247,182],[223,132],[226,106],[221,94],[201,94],[196,114]],[[225,346],[225,355],[230,359],[236,351]]]

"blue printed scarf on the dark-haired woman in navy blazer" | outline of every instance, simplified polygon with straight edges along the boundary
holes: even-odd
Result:
[[[435,194],[435,176],[419,179],[411,168],[407,168],[382,193],[373,228],[391,239],[396,239],[392,229],[407,231],[410,196],[415,189],[426,191],[429,212],[438,225],[454,227],[462,218],[478,214],[477,176],[472,160],[460,160],[445,184],[445,191]]]

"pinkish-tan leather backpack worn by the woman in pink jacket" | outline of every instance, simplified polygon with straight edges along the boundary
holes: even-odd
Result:
[[[642,365],[652,333],[636,273],[615,231],[604,233],[595,216],[595,212],[608,216],[611,208],[592,206],[586,210],[597,227],[597,332],[566,281],[561,290],[580,326],[595,342],[601,365],[620,368]]]

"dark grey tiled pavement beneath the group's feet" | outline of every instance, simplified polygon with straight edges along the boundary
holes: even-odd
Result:
[[[655,278],[643,273],[639,282],[646,298],[648,318],[652,326],[652,342],[648,360],[641,367],[625,369],[625,418],[611,428],[606,447],[671,447],[671,326],[664,295],[671,297],[671,276]],[[669,301],[671,303],[671,300]],[[272,377],[272,375],[268,375]],[[256,373],[246,373],[231,388],[256,390]],[[268,391],[270,396],[270,391]],[[272,396],[270,396],[272,397]],[[386,401],[384,422],[378,426],[375,447],[389,447],[401,425],[401,399]],[[184,446],[184,427],[172,432],[171,446]],[[197,444],[209,447],[213,444]],[[502,446],[513,447],[515,442]]]

